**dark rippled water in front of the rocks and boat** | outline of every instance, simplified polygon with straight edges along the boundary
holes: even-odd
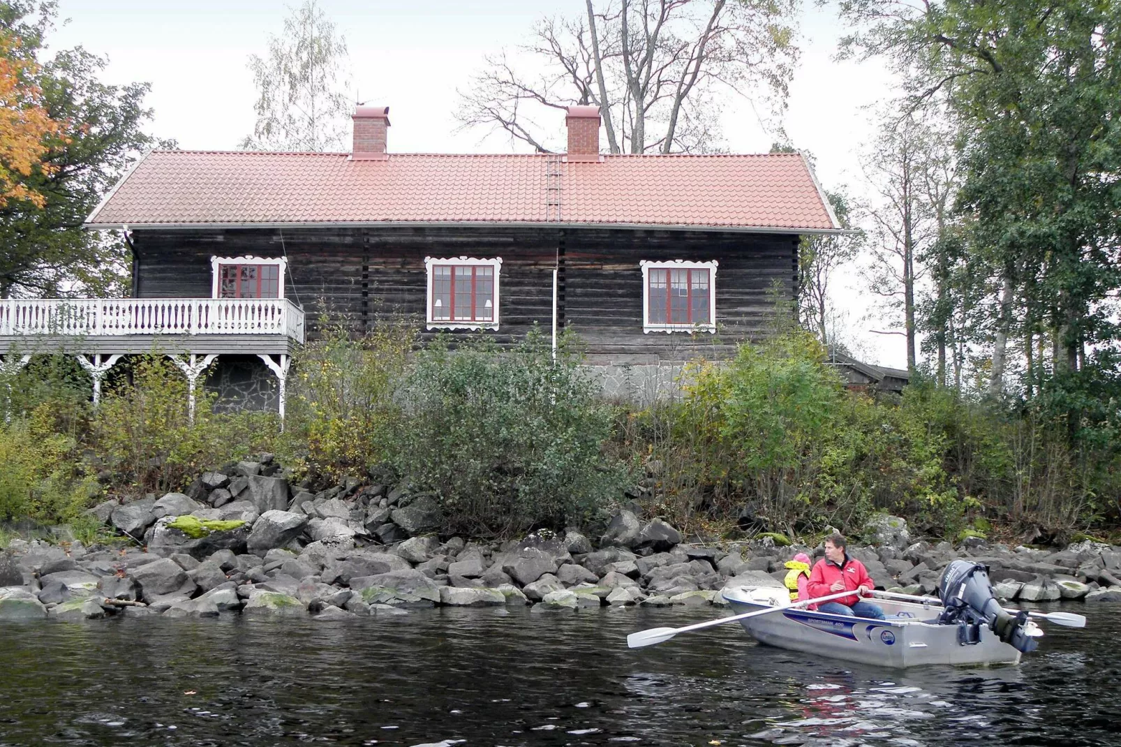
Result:
[[[759,646],[726,612],[423,610],[354,622],[0,627],[0,745],[1121,745],[1121,606],[1018,667]]]

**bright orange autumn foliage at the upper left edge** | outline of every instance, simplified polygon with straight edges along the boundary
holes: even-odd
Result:
[[[46,138],[57,135],[62,125],[54,121],[40,104],[41,91],[30,82],[38,67],[18,59],[12,53],[19,40],[0,31],[0,208],[9,200],[27,200],[41,208],[41,194],[20,183],[36,169],[49,174],[55,167],[44,164]]]

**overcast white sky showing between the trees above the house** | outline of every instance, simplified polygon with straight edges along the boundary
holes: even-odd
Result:
[[[291,2],[268,0],[62,0],[62,26],[49,43],[82,45],[109,57],[110,83],[148,81],[152,133],[188,149],[232,149],[253,127],[250,54],[263,54]],[[358,95],[390,107],[389,149],[399,153],[506,153],[502,136],[456,131],[456,89],[465,89],[483,55],[526,38],[541,16],[577,15],[582,0],[321,0],[350,47]],[[826,188],[861,191],[858,153],[871,139],[868,107],[890,96],[879,63],[833,59],[842,33],[833,8],[807,3],[802,61],[785,127],[814,154]],[[558,122],[558,127],[560,122]],[[773,141],[747,101],[730,99],[723,131],[733,153],[766,153]],[[905,367],[901,338],[874,335],[861,321],[867,294],[850,273],[835,295],[850,315],[850,342],[870,362]]]

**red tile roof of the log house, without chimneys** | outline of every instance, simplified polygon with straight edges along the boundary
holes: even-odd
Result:
[[[550,176],[549,173],[559,174]],[[559,220],[548,187],[560,185]],[[548,223],[840,228],[798,154],[603,156],[156,150],[90,215],[113,227]]]

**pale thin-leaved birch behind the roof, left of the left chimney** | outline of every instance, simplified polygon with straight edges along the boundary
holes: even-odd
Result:
[[[269,35],[265,57],[250,55],[257,123],[241,141],[250,150],[346,150],[352,102],[346,39],[305,0]]]

